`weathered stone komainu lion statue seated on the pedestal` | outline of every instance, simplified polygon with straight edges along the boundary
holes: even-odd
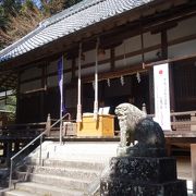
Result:
[[[166,140],[162,128],[158,123],[147,118],[147,114],[131,103],[121,103],[115,108],[119,119],[121,140],[118,155],[126,155],[133,148],[127,148],[134,140],[134,146],[145,154],[145,148],[164,148]],[[127,137],[127,140],[126,140]]]

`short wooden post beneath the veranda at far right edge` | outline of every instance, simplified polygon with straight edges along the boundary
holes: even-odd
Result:
[[[193,194],[196,194],[196,144],[191,144]]]

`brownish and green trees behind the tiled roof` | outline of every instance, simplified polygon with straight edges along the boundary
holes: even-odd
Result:
[[[3,0],[0,4],[0,49],[19,40],[47,17],[82,0],[41,0],[39,10],[32,0]]]

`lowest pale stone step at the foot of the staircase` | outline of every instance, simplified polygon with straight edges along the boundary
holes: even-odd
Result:
[[[81,191],[70,189],[64,187],[61,188],[58,186],[46,185],[35,182],[17,183],[16,189],[40,196],[84,196],[84,192]]]

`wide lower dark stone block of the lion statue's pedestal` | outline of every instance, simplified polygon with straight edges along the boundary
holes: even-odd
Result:
[[[186,181],[135,183],[123,179],[101,179],[101,196],[187,196]]]

